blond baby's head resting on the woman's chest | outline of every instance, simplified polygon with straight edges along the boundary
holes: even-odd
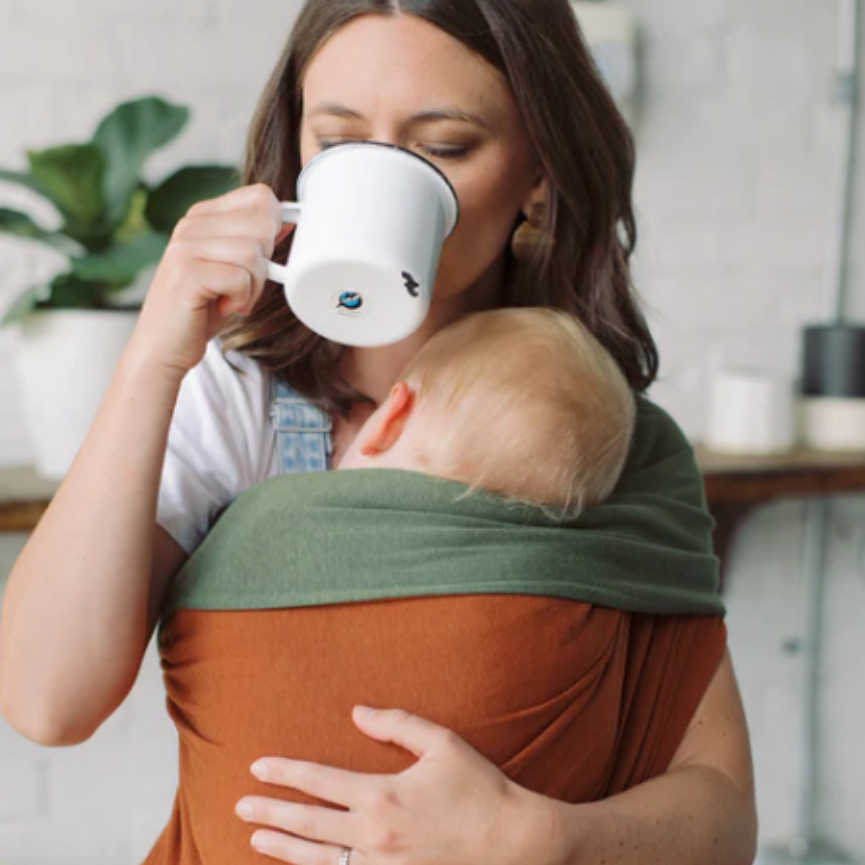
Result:
[[[634,415],[627,381],[579,321],[494,310],[418,352],[340,467],[424,472],[573,511],[612,492]]]

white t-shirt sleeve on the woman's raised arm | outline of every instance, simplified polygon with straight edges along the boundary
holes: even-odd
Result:
[[[216,515],[278,473],[270,375],[219,340],[187,373],[168,436],[156,521],[192,553]]]

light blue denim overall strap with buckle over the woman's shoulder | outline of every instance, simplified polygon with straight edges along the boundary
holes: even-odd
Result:
[[[327,471],[333,452],[330,418],[284,382],[275,377],[272,382],[270,418],[279,474]]]

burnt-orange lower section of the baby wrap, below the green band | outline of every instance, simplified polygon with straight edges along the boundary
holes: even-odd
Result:
[[[354,726],[357,703],[448,727],[529,789],[605,798],[666,770],[725,645],[719,616],[525,595],[180,610],[160,634],[180,784],[146,865],[261,865],[238,800],[308,799],[256,780],[260,757],[411,765]]]

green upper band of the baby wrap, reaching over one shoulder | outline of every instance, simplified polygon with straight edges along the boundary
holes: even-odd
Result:
[[[640,400],[622,479],[564,521],[392,469],[273,478],[240,496],[173,581],[179,609],[267,610],[514,594],[633,613],[722,615],[693,451]]]

